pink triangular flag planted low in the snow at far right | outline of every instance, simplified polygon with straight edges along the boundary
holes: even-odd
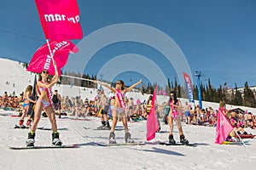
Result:
[[[233,127],[230,125],[230,122],[224,116],[222,111],[218,110],[218,122],[216,127],[216,144],[223,144],[224,140],[227,139],[230,132],[233,130]]]

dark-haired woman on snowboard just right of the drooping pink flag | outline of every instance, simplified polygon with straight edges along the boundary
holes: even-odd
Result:
[[[169,131],[169,143],[170,144],[176,144],[176,141],[173,139],[173,120],[176,122],[177,125],[177,129],[180,135],[180,142],[182,144],[189,144],[189,140],[185,139],[185,136],[183,134],[183,128],[181,126],[181,122],[180,122],[180,117],[178,114],[178,111],[180,110],[180,108],[182,107],[181,102],[179,99],[177,99],[177,95],[174,91],[172,91],[170,93],[171,96],[171,101],[170,101],[170,112],[168,115],[168,123],[169,123],[169,127],[170,127],[170,131]]]

